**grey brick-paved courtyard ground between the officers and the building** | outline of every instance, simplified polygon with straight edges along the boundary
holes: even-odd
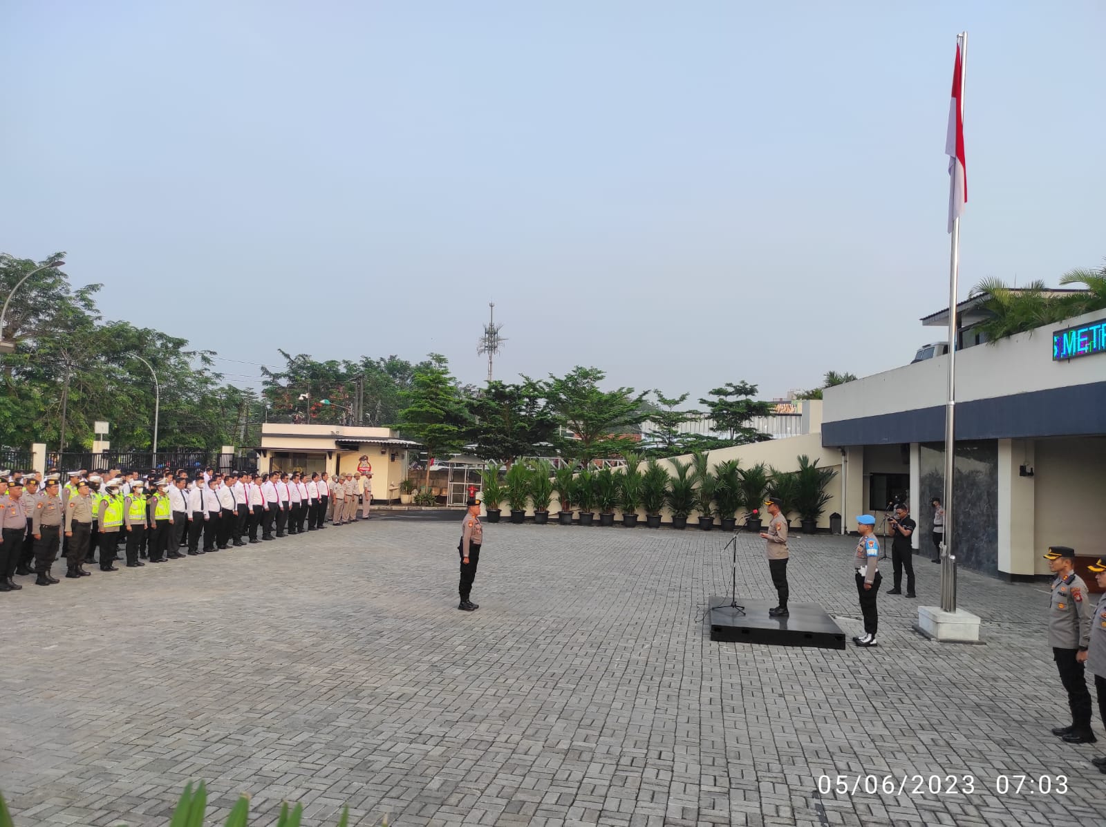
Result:
[[[1106,824],[1100,722],[1098,749],[1048,733],[1067,720],[1046,587],[961,574],[987,646],[940,646],[910,629],[938,603],[938,566],[918,558],[921,600],[880,595],[878,649],[714,643],[702,615],[728,590],[728,535],[489,525],[466,614],[458,533],[379,516],[50,588],[21,578],[0,595],[17,827],[168,825],[199,778],[208,824],[242,792],[252,824],[288,799],[310,827],[344,803],[362,825]],[[849,637],[854,544],[799,538],[790,565],[792,599]],[[739,551],[740,593],[773,596],[761,541]],[[820,776],[862,782],[820,793]]]

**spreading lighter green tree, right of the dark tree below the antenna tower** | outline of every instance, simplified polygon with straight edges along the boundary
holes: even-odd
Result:
[[[560,378],[550,374],[542,384],[550,409],[572,432],[571,437],[556,438],[562,456],[584,464],[635,448],[637,442],[626,431],[648,416],[641,407],[648,391],[635,395],[634,388],[625,387],[601,390],[598,385],[605,378],[598,368],[577,365]]]

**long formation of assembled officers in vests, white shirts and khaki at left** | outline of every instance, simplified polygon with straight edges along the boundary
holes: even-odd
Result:
[[[13,575],[34,574],[42,586],[58,583],[51,567],[59,541],[65,576],[79,578],[90,574],[84,565],[96,562],[97,551],[101,570],[118,570],[113,563],[121,543],[127,567],[137,567],[143,558],[164,563],[321,531],[327,521],[346,525],[367,519],[372,505],[372,474],[359,472],[332,478],[208,469],[195,478],[166,471],[144,480],[137,472],[82,470],[67,477],[61,490],[59,475],[48,477],[40,491],[39,474],[0,472],[0,590],[22,588]]]

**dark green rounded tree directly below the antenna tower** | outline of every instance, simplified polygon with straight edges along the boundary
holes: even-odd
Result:
[[[476,443],[477,457],[508,465],[519,457],[536,453],[536,446],[551,441],[556,432],[556,418],[542,386],[532,379],[521,385],[488,383],[469,399],[469,414],[473,421],[468,439]]]

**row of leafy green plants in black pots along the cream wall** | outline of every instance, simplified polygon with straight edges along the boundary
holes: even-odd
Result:
[[[817,460],[805,456],[797,460],[797,471],[776,471],[764,463],[743,469],[738,460],[711,467],[706,453],[696,453],[688,462],[668,460],[669,472],[660,461],[650,459],[643,468],[639,458],[629,456],[617,471],[561,468],[555,473],[549,462],[539,460],[515,462],[502,480],[499,464],[490,463],[481,475],[483,504],[492,523],[499,522],[505,502],[512,523],[523,522],[532,507],[534,522],[544,524],[555,494],[562,525],[571,524],[574,513],[580,514],[581,525],[592,525],[596,510],[599,525],[614,525],[618,510],[623,525],[634,527],[644,510],[646,524],[657,528],[668,509],[674,528],[685,528],[697,513],[705,531],[714,526],[714,517],[723,531],[732,531],[738,512],[744,510],[745,527],[760,531],[760,509],[766,496],[775,496],[786,519],[797,513],[803,531],[814,532],[831,499],[826,488],[837,472],[818,468]]]

